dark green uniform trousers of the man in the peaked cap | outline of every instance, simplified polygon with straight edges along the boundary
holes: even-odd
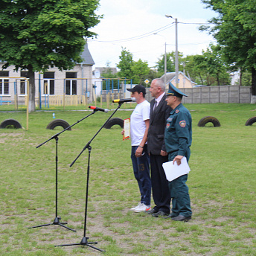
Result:
[[[169,161],[173,161],[178,152],[168,154]],[[186,153],[187,160],[191,156],[191,151]],[[177,179],[169,182],[170,196],[172,198],[172,216],[176,217],[182,214],[185,217],[191,217],[191,199],[188,194],[188,186],[186,185],[188,174],[182,175]]]

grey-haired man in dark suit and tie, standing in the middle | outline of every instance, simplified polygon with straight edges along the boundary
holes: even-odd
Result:
[[[150,85],[155,99],[150,102],[150,127],[147,135],[147,151],[150,153],[150,170],[153,199],[156,204],[149,214],[159,217],[170,214],[170,191],[162,164],[168,161],[164,145],[164,130],[171,108],[165,101],[164,81],[157,78]]]

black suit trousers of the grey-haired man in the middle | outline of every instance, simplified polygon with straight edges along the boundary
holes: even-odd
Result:
[[[168,156],[150,154],[150,169],[152,195],[156,211],[164,211],[170,214],[170,191],[162,164],[168,161]]]

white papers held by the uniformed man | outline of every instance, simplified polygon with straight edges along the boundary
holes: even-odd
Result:
[[[166,179],[171,182],[173,179],[177,179],[179,176],[188,174],[191,168],[188,166],[188,161],[185,156],[182,158],[181,164],[177,164],[177,161],[167,161],[163,164],[164,173]]]

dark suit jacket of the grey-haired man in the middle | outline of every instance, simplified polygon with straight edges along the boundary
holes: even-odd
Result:
[[[153,155],[160,155],[161,150],[165,150],[164,130],[166,120],[170,116],[171,108],[167,106],[164,95],[159,105],[153,111],[155,99],[150,102],[150,127],[147,135],[147,152]]]

